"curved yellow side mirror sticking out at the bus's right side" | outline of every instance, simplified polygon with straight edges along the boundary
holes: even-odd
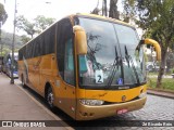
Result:
[[[161,47],[156,40],[147,38],[145,40],[141,40],[141,43],[153,46],[157,52],[157,61],[161,61]]]

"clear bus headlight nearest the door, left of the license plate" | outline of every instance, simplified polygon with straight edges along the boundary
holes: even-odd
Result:
[[[104,103],[104,101],[102,100],[79,100],[79,102],[83,104],[83,105],[91,105],[91,106],[98,106],[98,105],[102,105]]]

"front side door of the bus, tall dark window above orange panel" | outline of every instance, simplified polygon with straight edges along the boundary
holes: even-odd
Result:
[[[61,31],[60,31],[61,28]],[[60,107],[71,117],[75,118],[76,110],[76,88],[75,88],[75,64],[74,64],[74,46],[73,28],[69,18],[62,20],[58,24],[58,66],[63,79],[59,88]],[[63,55],[62,55],[63,54]]]

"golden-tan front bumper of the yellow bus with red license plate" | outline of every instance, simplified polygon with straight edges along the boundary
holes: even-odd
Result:
[[[140,109],[144,107],[146,100],[147,98],[142,98],[130,102],[101,106],[88,106],[78,103],[79,109],[76,113],[76,120],[98,119]]]

